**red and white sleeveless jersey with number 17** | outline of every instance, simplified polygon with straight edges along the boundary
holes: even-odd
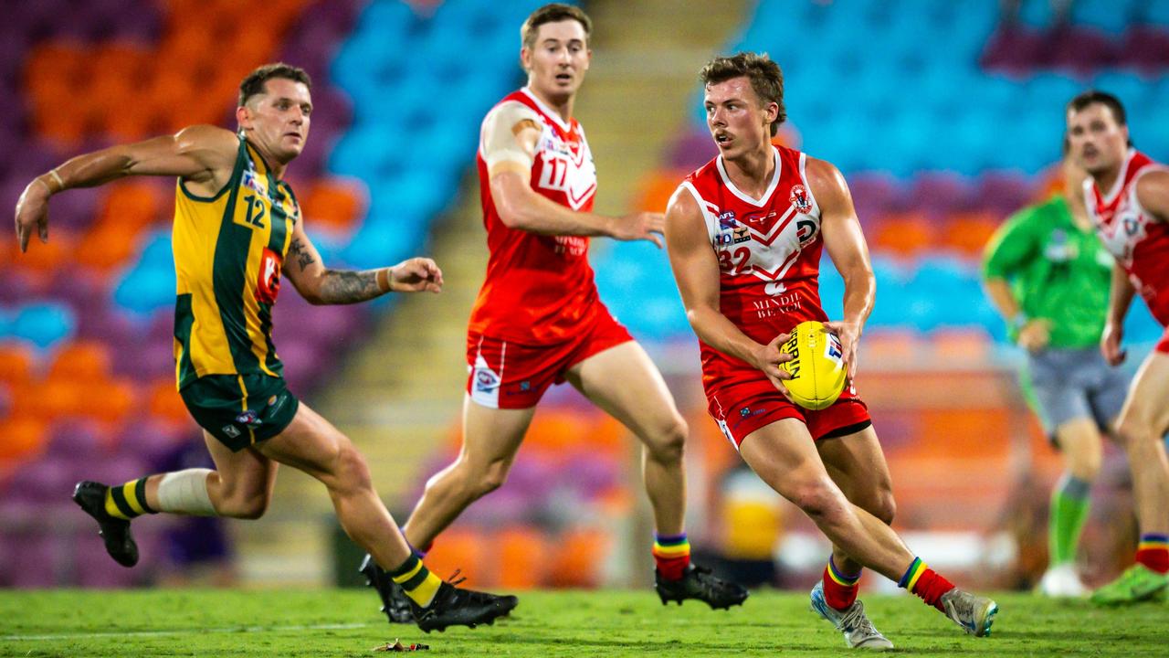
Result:
[[[534,110],[541,123],[532,190],[574,211],[592,211],[596,169],[576,119],[565,123],[527,89],[507,95],[496,107],[509,102]],[[491,197],[482,137],[477,160],[491,255],[471,310],[470,330],[525,344],[555,343],[575,335],[581,324],[593,320],[599,306],[588,238],[538,235],[504,225]]]

